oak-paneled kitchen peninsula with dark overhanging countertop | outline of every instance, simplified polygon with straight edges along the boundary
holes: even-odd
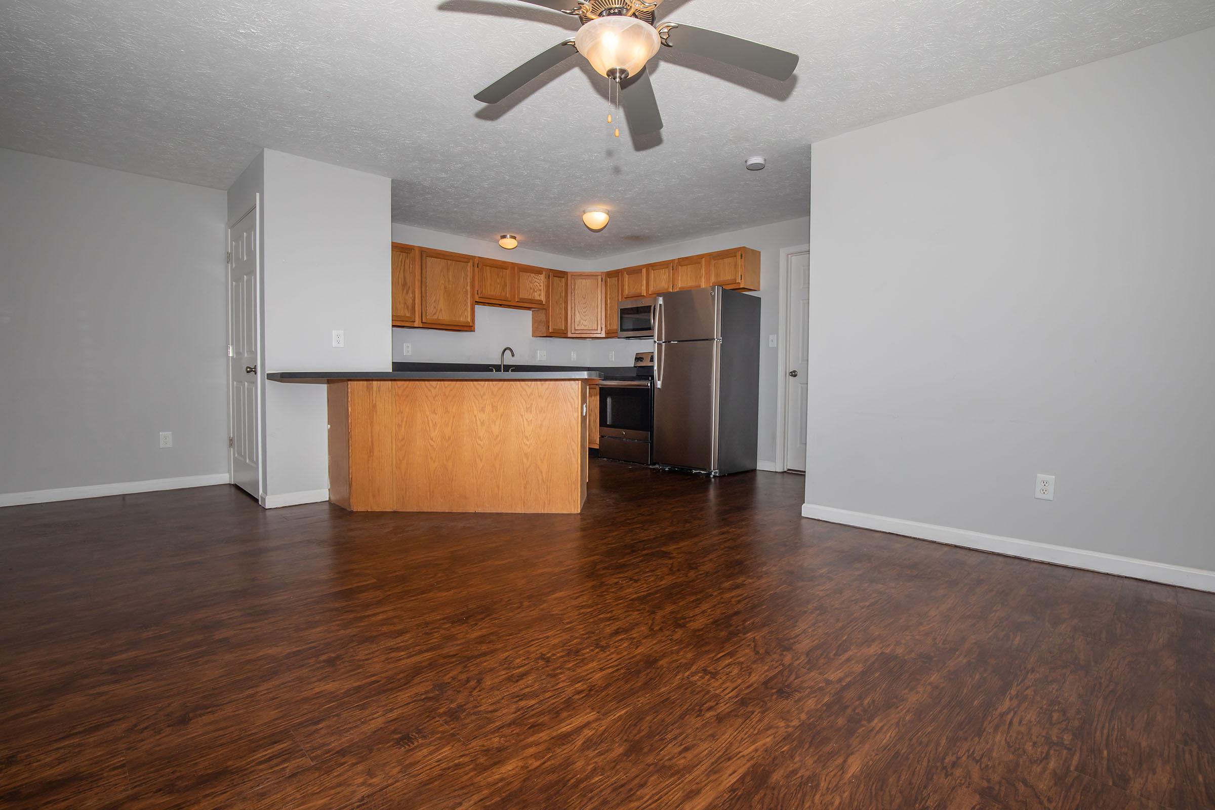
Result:
[[[578,512],[595,372],[279,372],[323,384],[329,500],[352,511]]]

